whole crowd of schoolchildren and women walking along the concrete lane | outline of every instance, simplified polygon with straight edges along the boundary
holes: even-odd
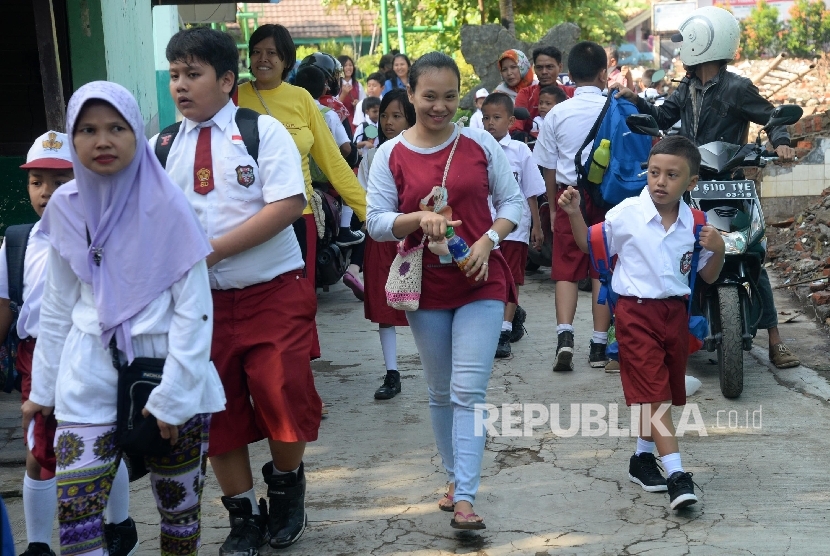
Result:
[[[644,409],[630,480],[649,492],[668,491],[673,509],[697,502],[665,411],[685,404],[682,297],[690,291],[682,260],[695,238],[682,195],[697,181],[694,137],[657,143],[647,187],[606,212],[575,187],[574,159],[605,102],[603,90],[611,85],[607,94],[636,95],[596,43],[569,52],[572,86],[557,83],[556,48],[533,52],[537,79],[523,53],[506,52],[499,59],[504,87],[475,95],[480,128],[454,123],[461,78],[444,54],[414,63],[392,56],[388,78],[370,75],[364,92],[350,58],[331,60],[345,70],[343,81],[338,71],[327,72],[328,59],[312,56],[300,65],[296,85],[287,83],[295,50],[284,27],[262,26],[250,43],[255,79],[237,87],[233,39],[207,28],[177,33],[166,54],[170,94],[183,120],[149,142],[133,96],[93,82],[70,99],[67,133],[49,131],[29,151],[22,168],[42,218],[25,236],[16,323],[29,450],[24,554],[54,554],[56,512],[62,554],[132,554],[138,539],[128,475],[142,467],[159,509],[160,552],[196,554],[208,461],[231,525],[220,554],[255,556],[266,543],[284,548],[303,534],[303,454],[317,439],[323,405],[310,364],[320,356],[310,158],[366,223],[365,256],[352,272],[363,269],[365,316],[379,327],[386,376],[376,399],[401,392],[396,327],[411,327],[447,475],[438,506],[452,512],[452,527],[485,528],[474,510],[486,438],[476,406],[486,401],[494,358],[510,356],[524,331],[518,286],[529,245],[542,242],[543,194],[555,210],[553,371],[574,369],[577,282],[593,272],[588,226],[602,226],[619,258],[620,359],[616,369],[607,366],[610,315],[596,303],[599,284],[591,274],[588,362],[620,372],[626,402]],[[705,76],[723,80],[730,59],[698,60],[700,85]],[[670,112],[668,101],[662,109],[637,102],[666,123],[687,117]],[[531,119],[516,120],[517,106]],[[345,152],[355,148],[353,140],[335,139],[352,124],[361,130],[356,172]],[[377,128],[376,140],[368,126]],[[535,149],[511,130],[536,138]],[[791,156],[785,133],[775,138],[779,154]],[[449,227],[469,244],[463,272],[440,250]],[[419,308],[390,308],[384,284],[396,244],[412,249],[427,240]],[[711,283],[723,264],[723,239],[705,226],[700,245],[700,277]],[[11,248],[4,242],[0,251],[3,336],[13,320],[13,273],[2,266]],[[789,352],[772,333],[770,342],[776,365],[798,364],[794,356],[780,359]],[[119,380],[122,367],[144,358],[164,360],[143,413],[169,452],[130,454],[128,470],[117,437]],[[651,426],[652,417],[662,427]],[[267,500],[257,498],[248,452],[263,439],[270,449],[262,465]]]

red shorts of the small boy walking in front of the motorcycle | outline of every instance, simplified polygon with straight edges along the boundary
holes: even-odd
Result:
[[[689,321],[683,300],[621,296],[615,319],[625,403],[686,405]]]

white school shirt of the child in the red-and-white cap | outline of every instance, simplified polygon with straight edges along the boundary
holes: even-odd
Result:
[[[46,258],[49,254],[49,237],[37,222],[29,232],[26,259],[23,262],[23,307],[17,317],[17,335],[20,338],[37,338],[40,330],[40,303],[43,298],[43,282],[46,280]],[[9,299],[9,267],[6,262],[6,242],[0,247],[0,297]]]

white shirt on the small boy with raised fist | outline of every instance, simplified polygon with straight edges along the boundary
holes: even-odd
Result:
[[[609,255],[618,255],[611,287],[620,295],[665,299],[689,295],[689,271],[694,249],[692,210],[680,202],[677,221],[666,231],[648,187],[605,215]],[[713,255],[702,249],[698,271]]]

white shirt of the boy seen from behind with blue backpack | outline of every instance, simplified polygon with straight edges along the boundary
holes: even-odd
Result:
[[[533,159],[542,168],[556,170],[556,183],[576,185],[576,153],[602,112],[605,97],[599,87],[577,87],[573,98],[556,104],[547,113],[533,148]],[[582,151],[588,161],[593,142]]]

